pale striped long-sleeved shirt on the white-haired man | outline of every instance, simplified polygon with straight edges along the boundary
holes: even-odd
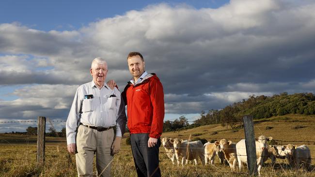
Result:
[[[93,95],[93,98],[84,99],[85,95]],[[80,123],[95,127],[117,125],[116,136],[122,136],[120,126],[116,123],[120,102],[119,90],[110,89],[106,83],[101,89],[96,87],[94,81],[79,86],[66,122],[67,144],[76,143],[76,131]]]

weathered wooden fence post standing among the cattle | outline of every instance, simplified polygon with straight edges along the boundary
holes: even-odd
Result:
[[[255,134],[254,134],[254,123],[252,121],[252,116],[244,116],[244,131],[245,131],[245,144],[246,144],[246,154],[247,154],[247,165],[250,175],[257,176],[257,162],[256,162],[256,144],[255,144]]]

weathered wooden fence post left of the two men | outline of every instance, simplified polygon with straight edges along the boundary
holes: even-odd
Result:
[[[37,118],[37,156],[36,162],[43,165],[45,162],[45,130],[46,117]]]

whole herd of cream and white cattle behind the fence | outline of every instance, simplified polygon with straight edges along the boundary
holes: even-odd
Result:
[[[275,164],[276,158],[287,159],[289,165],[292,168],[298,169],[299,167],[305,170],[311,171],[311,152],[310,149],[305,146],[295,146],[288,144],[286,146],[271,146],[268,145],[268,141],[272,140],[272,137],[266,137],[264,135],[259,136],[256,141],[256,156],[257,156],[257,170],[260,174],[263,163],[271,159],[272,166]],[[208,163],[214,165],[214,159],[219,157],[221,164],[226,164],[231,167],[232,170],[236,169],[236,163],[238,163],[239,169],[244,164],[247,164],[247,154],[245,139],[240,140],[237,143],[221,139],[214,143],[202,144],[201,141],[180,140],[164,137],[162,139],[162,145],[165,148],[167,156],[171,159],[173,164],[175,161],[177,165],[182,166],[189,161],[194,161],[197,165],[198,157],[203,165]]]

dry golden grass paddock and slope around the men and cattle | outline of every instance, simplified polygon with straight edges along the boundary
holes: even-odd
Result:
[[[315,143],[295,141],[315,141],[315,116],[285,115],[264,119],[263,122],[255,122],[255,136],[263,134],[272,136],[278,144],[292,143],[295,145],[306,144],[311,149],[312,172],[290,169],[285,160],[278,160],[275,168],[270,165],[270,160],[262,168],[262,176],[274,177],[315,177]],[[270,121],[272,120],[272,121]],[[281,121],[279,121],[281,120]],[[286,122],[283,122],[285,120]],[[267,129],[266,127],[272,127]],[[214,133],[216,132],[216,133]],[[125,136],[128,136],[125,134]],[[220,140],[244,138],[243,129],[234,131],[226,130],[221,125],[207,125],[195,129],[179,132],[163,133],[162,137],[178,137],[188,139],[199,137],[201,139]],[[291,141],[291,142],[290,142]],[[218,159],[214,165],[203,166],[200,162],[197,166],[188,164],[177,167],[167,158],[165,150],[160,147],[160,168],[163,177],[247,177],[247,169],[232,171],[229,167],[219,164]],[[94,170],[95,171],[95,170]],[[76,177],[77,170],[75,156],[66,151],[65,138],[46,138],[45,165],[38,167],[36,164],[36,137],[26,135],[0,134],[0,177]],[[130,146],[126,145],[125,138],[122,141],[121,151],[114,156],[113,177],[135,177],[136,172]]]

